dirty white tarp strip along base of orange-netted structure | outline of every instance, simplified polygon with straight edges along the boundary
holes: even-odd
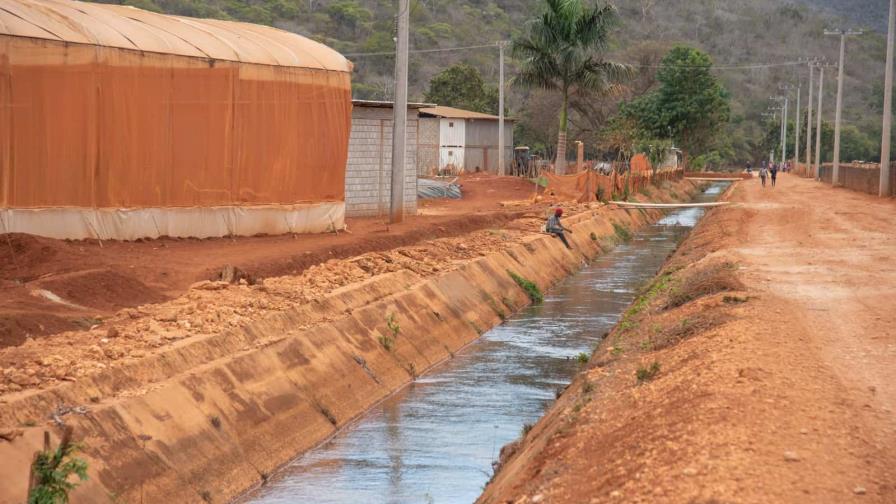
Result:
[[[193,208],[0,208],[0,233],[136,240],[322,233],[345,228],[345,203]]]

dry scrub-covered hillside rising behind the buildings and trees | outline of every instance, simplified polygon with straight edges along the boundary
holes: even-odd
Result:
[[[358,98],[389,99],[392,92],[391,56],[363,56],[394,50],[395,0],[104,0],[144,9],[196,17],[238,19],[291,30],[324,42],[348,54],[355,63],[354,94]],[[778,63],[805,56],[837,58],[836,37],[823,35],[825,27],[879,27],[886,22],[886,0],[617,0],[620,25],[611,57],[620,62],[650,67],[675,44],[706,51],[717,65]],[[412,0],[411,47],[452,48],[492,44],[518,35],[537,14],[541,0]],[[838,16],[844,16],[839,18]],[[864,135],[850,145],[864,145],[850,154],[868,158],[880,130],[880,89],[883,81],[885,41],[872,31],[849,43],[844,117],[847,126]],[[452,64],[466,62],[478,68],[487,82],[497,80],[497,50],[491,48],[415,54],[410,64],[410,98],[421,100],[430,79]],[[508,61],[508,76],[514,74]],[[643,92],[652,82],[650,68],[642,70],[631,93]],[[829,71],[832,77],[833,71]],[[720,70],[731,92],[732,123],[725,157],[746,159],[761,151],[768,124],[761,116],[768,97],[781,82],[803,83],[808,69],[769,67]],[[834,79],[826,83],[827,104],[832,105]],[[804,86],[803,91],[806,91]],[[519,138],[549,146],[556,132],[553,118],[556,97],[512,88],[508,107],[518,123]],[[618,100],[617,100],[618,101]],[[805,102],[803,102],[805,103]],[[597,134],[615,103],[589,102],[579,110],[570,138],[586,145],[598,143]],[[829,109],[830,110],[830,109]],[[855,135],[854,135],[855,136]]]

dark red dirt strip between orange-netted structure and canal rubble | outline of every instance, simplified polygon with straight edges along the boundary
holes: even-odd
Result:
[[[458,182],[461,200],[421,200],[421,215],[397,225],[384,218],[347,219],[349,232],[338,234],[102,244],[0,235],[0,348],[29,336],[89,328],[121,308],[174,298],[225,265],[258,278],[298,274],[329,259],[500,228],[546,204],[532,203],[533,184],[524,179],[473,174]],[[42,297],[40,289],[69,304]]]

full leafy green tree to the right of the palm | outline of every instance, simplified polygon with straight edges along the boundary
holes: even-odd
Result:
[[[626,107],[626,113],[637,117],[650,135],[674,138],[686,166],[691,155],[713,149],[731,114],[728,92],[711,70],[707,54],[692,47],[675,47],[657,72],[659,89]]]

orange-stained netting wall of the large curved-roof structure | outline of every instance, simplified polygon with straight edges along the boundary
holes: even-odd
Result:
[[[0,0],[0,9],[17,3]],[[265,45],[256,30],[278,31],[207,26],[221,40],[235,30],[229,25],[254,40],[240,46],[252,51]],[[298,66],[285,47],[281,40],[265,52],[278,61],[293,54],[296,66],[0,35],[0,206],[343,200],[350,66],[322,68],[342,58],[329,49],[321,51],[327,57],[303,56],[313,59],[310,68]]]

